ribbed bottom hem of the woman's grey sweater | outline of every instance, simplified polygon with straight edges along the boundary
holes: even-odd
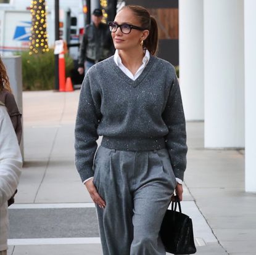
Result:
[[[102,138],[101,145],[115,150],[160,150],[166,148],[163,138],[130,138],[130,137],[107,137]]]

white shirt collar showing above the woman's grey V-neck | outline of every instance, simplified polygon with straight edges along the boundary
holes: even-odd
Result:
[[[114,61],[117,64],[117,66],[125,73],[125,75],[133,79],[133,81],[135,81],[141,75],[142,71],[145,69],[147,63],[149,62],[149,59],[150,59],[150,54],[149,54],[149,51],[146,49],[145,55],[142,59],[141,66],[136,71],[135,75],[133,75],[131,71],[123,65],[122,59],[118,54],[118,50],[115,50],[115,55],[114,55]]]

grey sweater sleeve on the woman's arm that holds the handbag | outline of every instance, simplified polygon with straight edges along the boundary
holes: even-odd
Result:
[[[186,121],[176,75],[171,84],[167,105],[162,116],[169,131],[165,136],[165,142],[170,155],[171,166],[175,177],[183,180],[188,147],[186,145]]]

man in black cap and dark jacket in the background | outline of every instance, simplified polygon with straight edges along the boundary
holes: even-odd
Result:
[[[107,57],[114,54],[109,27],[101,22],[102,18],[102,10],[95,9],[91,17],[91,24],[85,27],[78,59],[78,73],[80,75],[84,71],[86,73],[95,63],[107,59]]]

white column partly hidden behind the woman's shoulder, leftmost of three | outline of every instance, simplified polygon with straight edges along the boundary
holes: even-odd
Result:
[[[186,120],[204,119],[203,24],[203,0],[180,0],[180,87]]]

